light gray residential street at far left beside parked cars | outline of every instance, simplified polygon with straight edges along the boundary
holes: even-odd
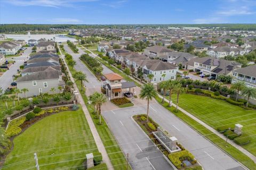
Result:
[[[17,74],[17,70],[20,69],[20,65],[23,64],[24,61],[28,60],[29,54],[31,53],[32,48],[29,47],[25,50],[25,52],[19,56],[19,57],[13,57],[12,58],[6,58],[6,60],[14,60],[16,61],[15,64],[13,64],[9,70],[7,70],[1,77],[0,77],[0,87],[2,87],[4,90],[7,89],[12,80],[12,75]]]

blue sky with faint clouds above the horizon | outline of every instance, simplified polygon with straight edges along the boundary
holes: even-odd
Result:
[[[0,23],[256,23],[248,0],[0,0]]]

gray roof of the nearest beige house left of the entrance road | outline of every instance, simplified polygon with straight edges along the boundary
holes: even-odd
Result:
[[[59,79],[59,71],[39,71],[17,79],[17,82]]]

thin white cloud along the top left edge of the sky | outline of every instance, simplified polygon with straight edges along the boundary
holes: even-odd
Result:
[[[73,3],[92,2],[97,0],[9,0],[4,1],[16,6],[46,6],[46,7],[75,7]]]

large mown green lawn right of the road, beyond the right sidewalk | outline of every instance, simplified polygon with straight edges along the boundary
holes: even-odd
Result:
[[[176,103],[175,95],[173,96],[173,102]],[[235,124],[242,124],[244,126],[243,132],[250,135],[252,139],[251,143],[242,147],[256,155],[255,110],[246,110],[223,100],[191,94],[182,94],[179,106],[214,129],[223,125],[230,125],[230,128],[234,129]]]

